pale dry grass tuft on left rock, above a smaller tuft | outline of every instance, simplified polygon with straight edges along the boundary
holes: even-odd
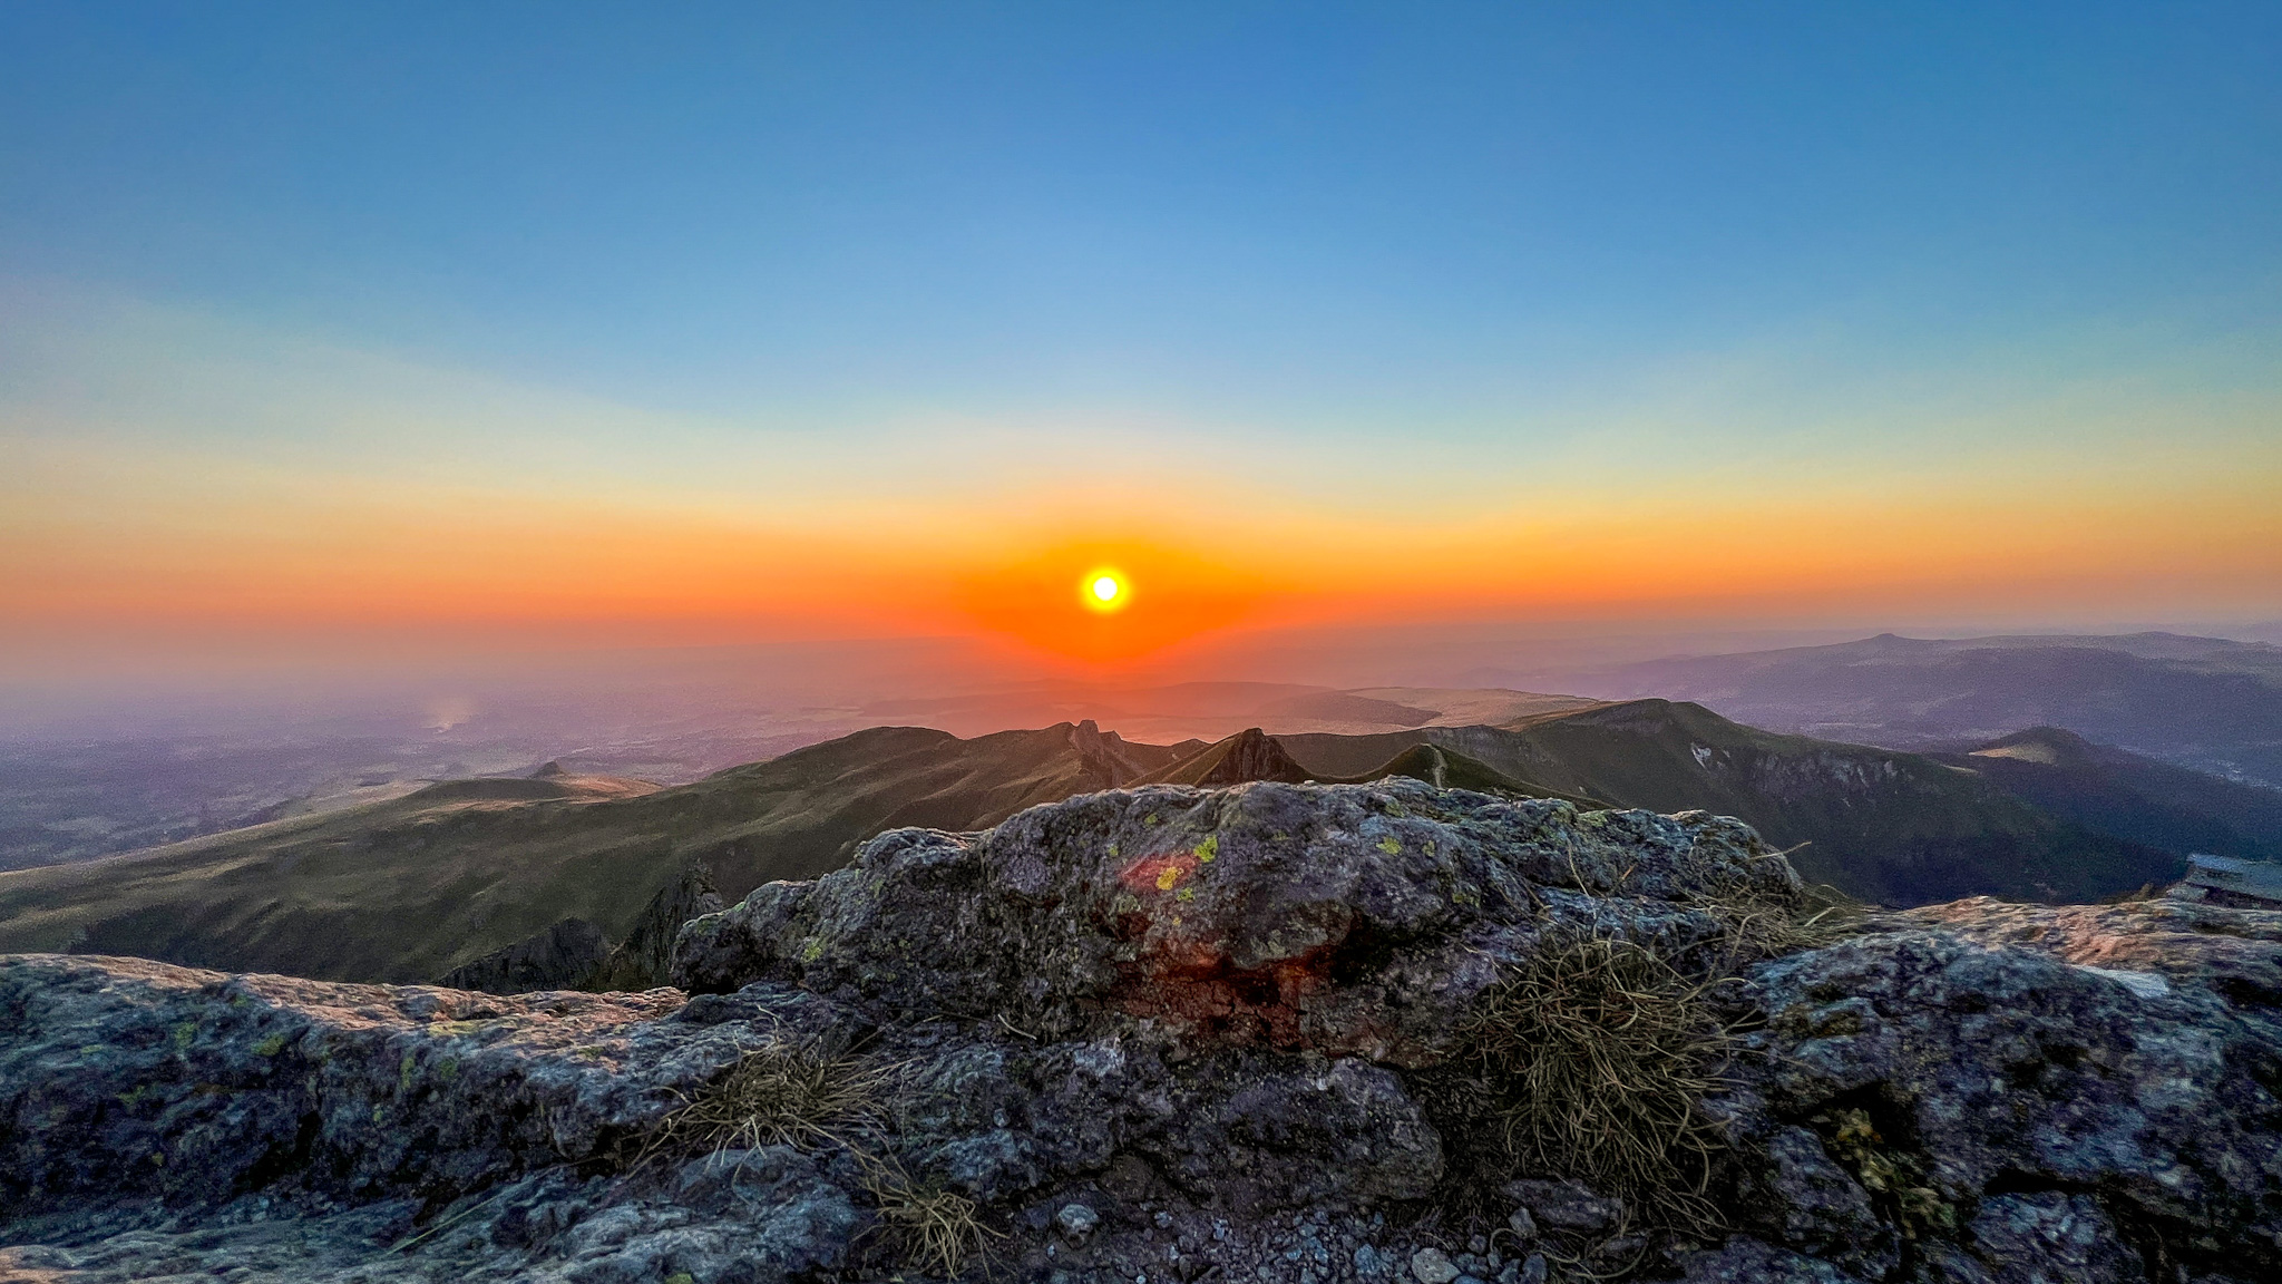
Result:
[[[897,1067],[771,1042],[748,1049],[726,1074],[666,1115],[657,1142],[701,1149],[847,1145],[888,1106]]]

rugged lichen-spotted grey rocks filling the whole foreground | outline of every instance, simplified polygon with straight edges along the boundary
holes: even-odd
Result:
[[[0,1282],[2282,1277],[2282,914],[1835,928],[1702,813],[1136,788],[682,989],[0,957]]]

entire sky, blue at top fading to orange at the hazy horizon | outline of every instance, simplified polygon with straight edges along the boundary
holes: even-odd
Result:
[[[2277,55],[0,5],[0,653],[2282,619]]]

